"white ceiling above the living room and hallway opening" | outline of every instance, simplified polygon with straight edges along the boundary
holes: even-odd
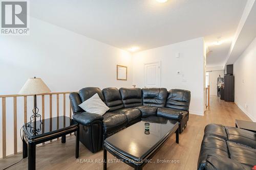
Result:
[[[197,37],[211,44],[236,32],[245,0],[33,0],[30,15],[127,50],[147,50]],[[225,60],[228,44],[210,47],[207,64]]]

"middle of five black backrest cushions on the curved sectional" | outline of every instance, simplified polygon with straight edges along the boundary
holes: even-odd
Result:
[[[124,107],[135,107],[142,105],[142,92],[140,88],[119,89]]]

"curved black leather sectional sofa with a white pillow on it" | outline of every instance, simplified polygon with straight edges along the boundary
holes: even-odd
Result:
[[[88,113],[78,105],[98,93],[110,108],[102,116]],[[70,94],[73,118],[80,124],[80,141],[93,153],[102,149],[103,140],[151,115],[179,122],[181,133],[187,126],[190,91],[166,88],[86,87]]]

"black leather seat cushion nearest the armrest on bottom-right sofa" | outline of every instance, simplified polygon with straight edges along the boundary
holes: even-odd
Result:
[[[256,164],[256,150],[238,143],[227,141],[230,158],[248,166]]]

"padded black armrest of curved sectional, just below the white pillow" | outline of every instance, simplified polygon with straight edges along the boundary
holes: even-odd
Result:
[[[95,113],[77,112],[72,115],[73,119],[83,126],[90,126],[94,121],[103,120],[103,116]]]

